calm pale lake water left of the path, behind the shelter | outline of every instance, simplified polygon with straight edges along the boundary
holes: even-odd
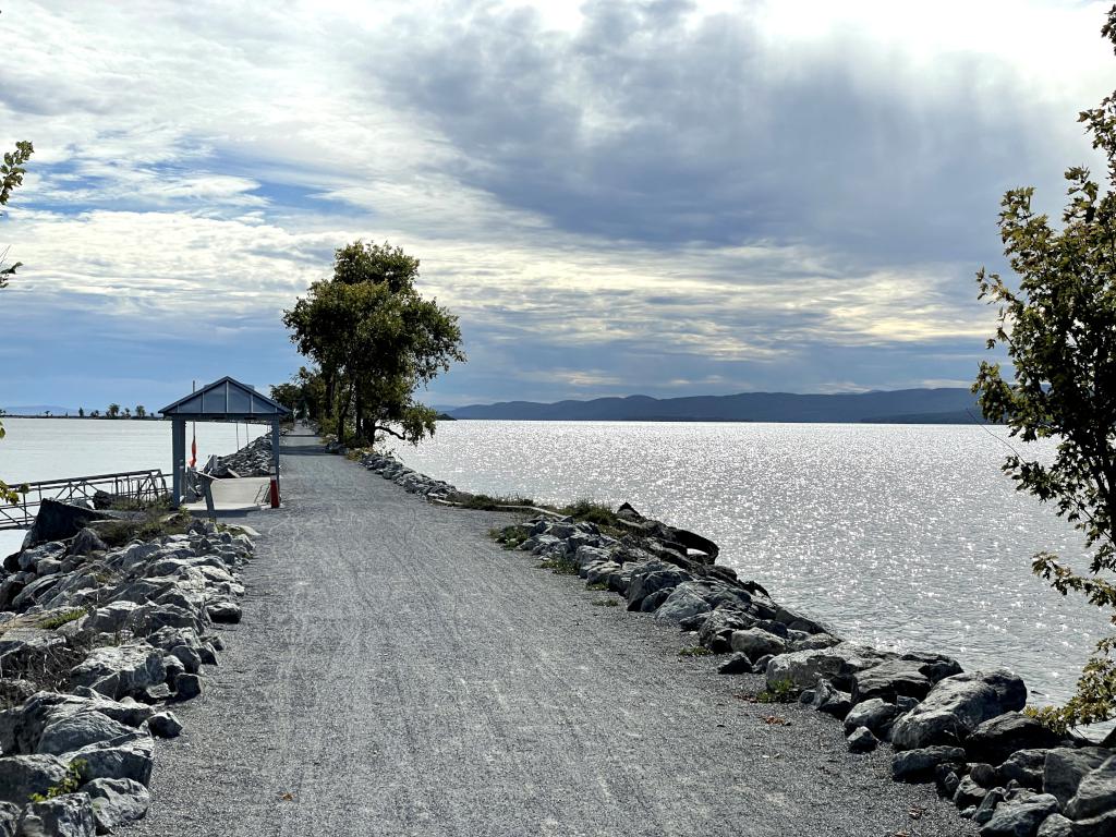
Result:
[[[0,478],[9,484],[161,468],[171,474],[171,423],[96,419],[3,419]],[[198,461],[232,453],[261,425],[203,422],[198,425]],[[189,435],[189,427],[187,427]],[[187,441],[189,444],[189,441]],[[0,556],[19,549],[23,532],[0,531]]]

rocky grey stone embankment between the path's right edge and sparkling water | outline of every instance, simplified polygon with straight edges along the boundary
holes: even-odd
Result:
[[[462,497],[391,456],[360,464],[434,501]],[[714,564],[715,548],[687,548],[687,532],[626,504],[615,523],[539,514],[500,540],[676,625],[702,653],[724,657],[723,674],[761,674],[759,700],[798,700],[833,715],[852,752],[889,744],[896,781],[934,782],[984,837],[1116,835],[1116,737],[1097,747],[1051,732],[1023,713],[1027,686],[1012,672],[965,672],[943,654],[845,641]]]

